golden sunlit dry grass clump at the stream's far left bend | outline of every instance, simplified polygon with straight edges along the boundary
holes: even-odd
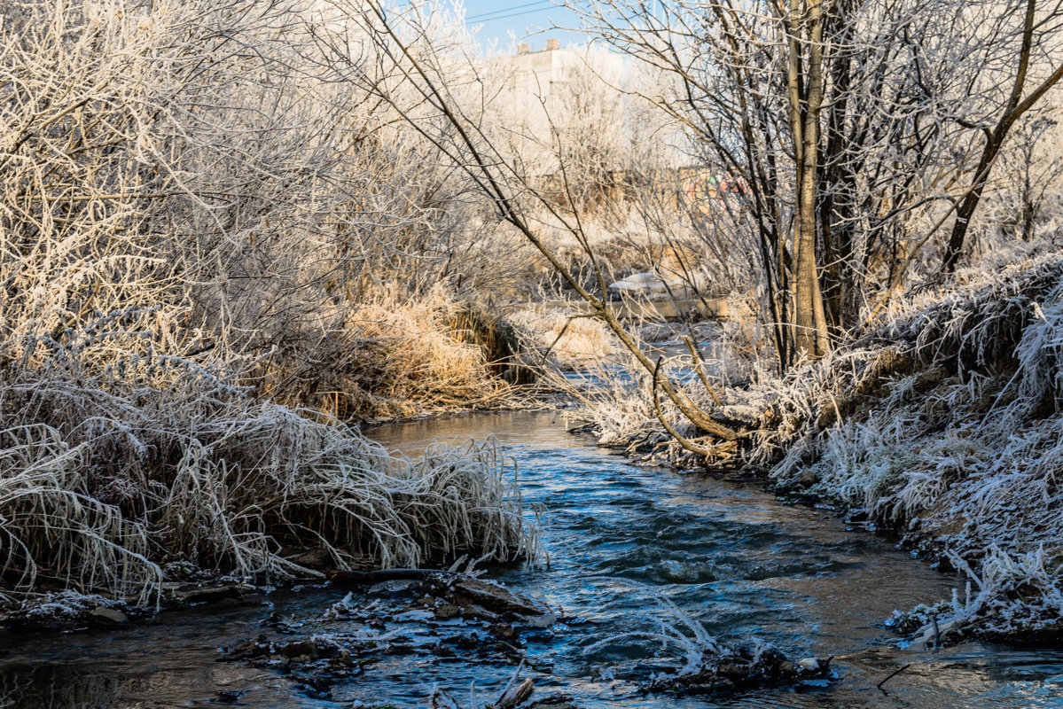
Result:
[[[471,311],[480,315],[470,320]],[[516,353],[506,350],[504,327],[442,289],[405,301],[377,296],[348,308],[335,328],[271,357],[260,391],[360,421],[510,404],[522,379],[507,376]]]

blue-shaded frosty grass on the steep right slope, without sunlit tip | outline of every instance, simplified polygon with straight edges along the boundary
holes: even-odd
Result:
[[[1063,617],[1061,281],[1063,257],[1049,254],[893,314],[874,337],[898,348],[908,371],[829,427],[804,417],[773,469],[784,487],[916,533],[974,581],[971,602],[924,639]]]

